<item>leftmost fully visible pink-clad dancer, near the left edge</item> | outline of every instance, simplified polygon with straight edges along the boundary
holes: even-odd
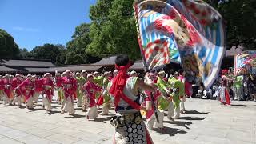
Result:
[[[3,95],[4,95],[4,104],[12,105],[12,96],[11,96],[11,76],[9,74],[5,75],[3,80]]]

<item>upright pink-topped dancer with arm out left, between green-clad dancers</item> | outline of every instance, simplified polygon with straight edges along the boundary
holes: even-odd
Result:
[[[58,73],[58,71],[56,71],[56,73]],[[72,77],[70,70],[66,70],[65,75],[65,77],[58,78],[58,80],[62,83],[62,91],[64,93],[61,112],[64,114],[64,112],[67,111],[70,115],[72,115],[74,114],[73,95],[77,90],[77,82],[76,79]]]

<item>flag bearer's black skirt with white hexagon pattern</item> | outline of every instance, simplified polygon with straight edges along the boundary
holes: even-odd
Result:
[[[114,144],[153,143],[140,113],[123,114],[121,119],[123,119],[122,126],[116,126]]]

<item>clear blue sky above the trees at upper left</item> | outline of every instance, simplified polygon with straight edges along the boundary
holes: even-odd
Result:
[[[90,22],[96,0],[0,0],[0,29],[11,34],[20,48],[70,41],[75,26]]]

